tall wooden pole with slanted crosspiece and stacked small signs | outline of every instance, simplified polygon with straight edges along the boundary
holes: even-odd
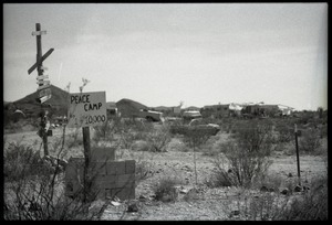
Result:
[[[45,81],[48,78],[48,75],[43,75],[43,72],[46,69],[43,67],[43,61],[54,51],[54,49],[50,49],[44,55],[42,55],[42,43],[41,43],[41,36],[43,34],[46,34],[46,31],[41,30],[40,23],[35,23],[35,31],[32,32],[32,35],[35,35],[37,40],[37,58],[35,63],[28,69],[28,74],[31,74],[32,71],[37,68],[38,72],[38,77],[37,77],[37,84],[39,85],[38,87],[38,98],[37,101],[40,103],[41,105],[41,122],[40,122],[40,130],[39,130],[39,136],[43,140],[43,146],[44,146],[44,156],[49,156],[49,148],[48,148],[48,110],[43,110],[43,103],[49,100],[51,98],[51,89],[50,87],[50,81]]]

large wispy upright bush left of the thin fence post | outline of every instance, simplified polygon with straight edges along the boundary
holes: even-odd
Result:
[[[215,159],[219,178],[230,180],[237,186],[250,186],[256,179],[266,174],[271,164],[271,127],[256,122],[249,125],[238,127],[234,139],[220,146],[224,154]]]

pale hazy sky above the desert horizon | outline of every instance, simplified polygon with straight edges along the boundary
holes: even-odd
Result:
[[[4,3],[3,100],[51,84],[148,107],[328,108],[328,3]]]

